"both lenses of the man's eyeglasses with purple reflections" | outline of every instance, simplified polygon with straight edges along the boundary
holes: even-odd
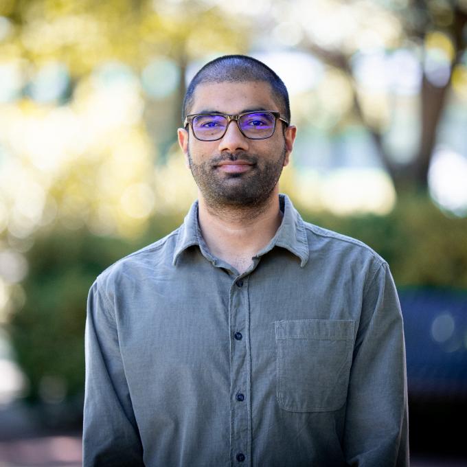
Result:
[[[227,117],[223,115],[197,115],[192,127],[197,138],[209,141],[223,137],[227,123]],[[274,133],[275,117],[268,112],[247,113],[238,119],[238,126],[247,138],[269,138]]]

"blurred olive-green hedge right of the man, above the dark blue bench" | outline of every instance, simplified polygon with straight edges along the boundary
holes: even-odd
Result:
[[[304,215],[372,247],[398,286],[467,288],[467,218],[446,216],[426,196],[400,196],[388,216]]]

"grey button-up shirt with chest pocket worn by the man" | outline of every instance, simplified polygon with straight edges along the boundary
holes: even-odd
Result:
[[[282,224],[239,274],[179,229],[89,293],[84,466],[407,466],[402,316],[365,244]]]

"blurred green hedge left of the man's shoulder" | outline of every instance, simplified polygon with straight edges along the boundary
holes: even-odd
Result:
[[[30,380],[29,400],[44,397],[44,377],[62,382],[67,399],[82,394],[89,287],[107,266],[179,223],[170,216],[159,218],[146,236],[133,241],[93,236],[84,229],[58,229],[36,238],[27,255],[30,272],[22,284],[26,301],[9,326],[19,365]]]

